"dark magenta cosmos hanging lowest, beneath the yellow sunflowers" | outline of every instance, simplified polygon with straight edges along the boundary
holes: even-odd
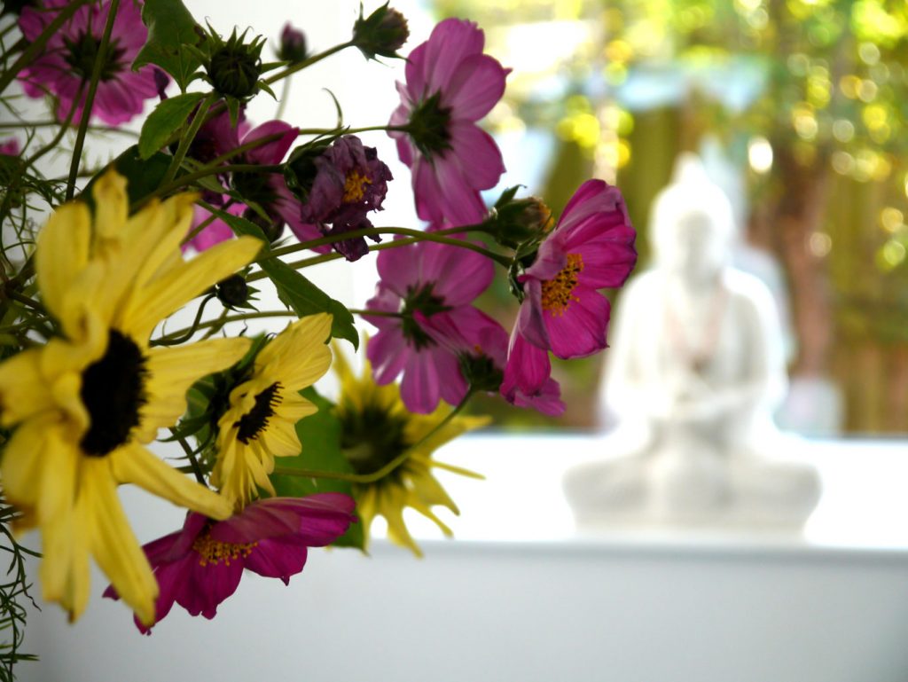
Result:
[[[155,623],[176,602],[190,615],[214,618],[240,584],[243,568],[284,585],[306,564],[308,548],[338,539],[356,518],[348,495],[323,492],[305,498],[261,499],[224,521],[186,515],[183,529],[143,547],[160,589]],[[113,587],[104,597],[119,598]],[[136,627],[148,634],[135,620]]]

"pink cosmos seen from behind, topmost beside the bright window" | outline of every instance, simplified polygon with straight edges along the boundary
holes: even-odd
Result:
[[[446,19],[407,61],[407,83],[398,83],[401,104],[390,131],[400,161],[410,166],[416,210],[431,222],[481,222],[486,205],[479,190],[498,184],[504,163],[498,146],[476,122],[505,90],[509,73],[488,54],[477,25]]]

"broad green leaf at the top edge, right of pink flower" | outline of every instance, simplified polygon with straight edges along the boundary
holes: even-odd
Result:
[[[183,45],[201,43],[202,29],[181,0],[145,0],[142,21],[148,26],[148,40],[135,57],[133,71],[145,64],[157,64],[185,91],[202,60]]]

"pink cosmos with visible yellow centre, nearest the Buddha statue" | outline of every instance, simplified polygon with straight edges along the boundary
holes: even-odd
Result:
[[[637,262],[635,236],[617,187],[601,180],[580,186],[540,244],[536,261],[518,277],[525,299],[503,391],[545,391],[548,350],[567,360],[607,346],[610,304],[597,290],[627,280]]]

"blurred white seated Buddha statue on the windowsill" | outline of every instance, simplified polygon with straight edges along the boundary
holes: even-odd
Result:
[[[786,384],[775,304],[731,267],[732,209],[695,155],[679,158],[650,229],[654,267],[628,283],[609,333],[617,429],[564,480],[578,526],[800,528],[819,480],[772,420]]]

